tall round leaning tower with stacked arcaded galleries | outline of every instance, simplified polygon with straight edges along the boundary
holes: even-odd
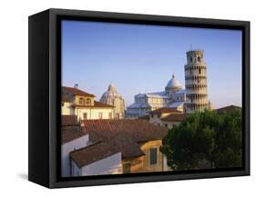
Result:
[[[187,52],[185,65],[186,113],[203,111],[209,108],[207,92],[207,66],[203,59],[203,51]]]

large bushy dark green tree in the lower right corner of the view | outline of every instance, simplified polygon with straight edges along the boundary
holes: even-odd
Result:
[[[241,112],[191,113],[162,144],[174,170],[241,166]]]

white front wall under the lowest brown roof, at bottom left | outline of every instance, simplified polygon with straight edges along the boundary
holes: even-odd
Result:
[[[74,176],[82,175],[102,175],[122,173],[122,154],[115,153],[95,163],[90,163],[82,168],[78,168],[77,164],[72,161],[74,166]]]

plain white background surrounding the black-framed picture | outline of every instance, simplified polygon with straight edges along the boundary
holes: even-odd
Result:
[[[101,187],[46,190],[32,182],[27,182],[27,16],[36,14],[49,7],[98,10],[109,12],[141,13],[153,15],[180,15],[207,18],[251,20],[251,76],[256,75],[255,1],[252,0],[23,0],[1,1],[0,54],[1,72],[0,96],[1,106],[1,194],[19,196],[70,197],[87,195],[103,196],[254,196],[256,166],[256,77],[251,77],[251,177],[234,177],[221,179],[204,179],[182,182],[151,182],[140,184],[123,184]],[[120,65],[121,66],[121,65]],[[169,65],[171,66],[171,65]],[[165,85],[165,84],[163,84]],[[16,96],[12,96],[12,95]],[[125,97],[127,95],[124,94]],[[18,99],[17,99],[18,98]],[[18,100],[18,101],[17,101]],[[5,104],[4,104],[5,103]],[[10,104],[12,103],[12,104]],[[15,113],[14,113],[15,112]],[[16,114],[16,116],[14,116]],[[15,125],[18,126],[15,126]],[[10,139],[12,143],[10,143]],[[40,170],[40,169],[38,169]],[[254,193],[254,194],[253,194]]]

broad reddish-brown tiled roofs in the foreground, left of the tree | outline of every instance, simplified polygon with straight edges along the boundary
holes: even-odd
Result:
[[[94,143],[70,153],[71,158],[81,167],[94,163],[114,153],[122,153],[122,158],[144,155],[138,143],[161,140],[167,128],[145,120],[84,120],[84,132]]]

